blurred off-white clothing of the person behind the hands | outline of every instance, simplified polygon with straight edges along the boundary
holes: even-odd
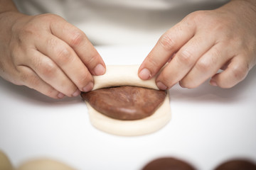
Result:
[[[29,15],[55,13],[80,28],[94,45],[153,45],[188,13],[228,0],[15,0]]]

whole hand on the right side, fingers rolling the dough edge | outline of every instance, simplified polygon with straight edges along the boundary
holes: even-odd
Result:
[[[213,86],[235,86],[256,63],[255,18],[255,1],[242,0],[189,14],[161,36],[139,68],[139,77],[151,79],[159,72],[159,89],[178,82],[195,88],[209,78]],[[224,70],[217,73],[219,69]]]

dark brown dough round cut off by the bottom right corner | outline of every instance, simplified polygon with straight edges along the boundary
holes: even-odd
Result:
[[[256,170],[256,164],[246,159],[233,159],[220,164],[215,170]]]

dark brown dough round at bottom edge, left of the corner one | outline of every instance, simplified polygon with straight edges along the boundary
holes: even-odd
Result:
[[[142,170],[196,170],[188,164],[180,159],[172,158],[172,157],[164,157],[155,159],[149,164],[146,164]]]

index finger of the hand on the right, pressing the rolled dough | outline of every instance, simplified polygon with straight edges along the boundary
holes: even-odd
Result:
[[[193,37],[195,31],[193,24],[185,19],[164,33],[139,67],[139,77],[154,77],[170,57]]]

